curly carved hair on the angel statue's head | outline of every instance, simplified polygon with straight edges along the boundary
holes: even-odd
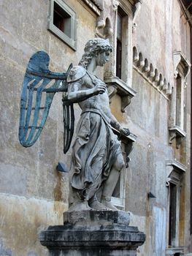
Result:
[[[86,43],[84,51],[85,53],[82,55],[79,65],[87,69],[88,64],[91,63],[91,59],[96,56],[96,53],[112,52],[112,46],[109,39],[94,38]]]

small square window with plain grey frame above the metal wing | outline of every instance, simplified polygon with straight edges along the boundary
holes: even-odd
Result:
[[[63,0],[50,0],[48,30],[76,50],[76,14]]]

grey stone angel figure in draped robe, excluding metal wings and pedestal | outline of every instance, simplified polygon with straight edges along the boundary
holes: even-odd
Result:
[[[72,146],[69,211],[117,211],[111,197],[124,161],[112,127],[123,135],[129,135],[129,130],[121,127],[112,115],[107,86],[94,75],[96,67],[109,60],[111,51],[108,39],[89,40],[79,65],[71,69],[67,78],[68,100],[79,102],[82,109]]]

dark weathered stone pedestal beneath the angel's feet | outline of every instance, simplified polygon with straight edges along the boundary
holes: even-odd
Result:
[[[64,225],[40,233],[51,256],[136,256],[145,234],[130,227],[124,211],[74,211],[64,213]]]

